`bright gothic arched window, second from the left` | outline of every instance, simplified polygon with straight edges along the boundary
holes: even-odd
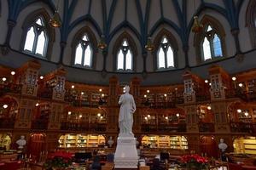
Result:
[[[74,65],[91,67],[92,55],[93,50],[91,47],[90,39],[86,34],[84,34],[84,36],[79,40],[79,44],[75,49]]]

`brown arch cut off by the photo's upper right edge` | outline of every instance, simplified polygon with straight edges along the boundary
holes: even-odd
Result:
[[[246,12],[246,26],[249,29],[253,48],[256,48],[256,1],[250,0]]]

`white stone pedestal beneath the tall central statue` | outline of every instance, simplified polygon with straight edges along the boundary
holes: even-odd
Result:
[[[113,162],[114,168],[137,168],[138,156],[135,138],[118,138]]]

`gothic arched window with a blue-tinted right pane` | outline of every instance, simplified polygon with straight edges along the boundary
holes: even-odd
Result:
[[[223,57],[223,49],[218,33],[212,29],[212,26],[207,26],[204,31],[204,38],[201,42],[201,54],[204,61]]]

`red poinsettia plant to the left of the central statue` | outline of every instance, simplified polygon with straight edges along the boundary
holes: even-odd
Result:
[[[72,165],[72,156],[73,154],[68,152],[56,151],[52,154],[49,154],[47,160],[44,162],[44,167],[46,169],[50,169],[52,167],[69,167]]]

